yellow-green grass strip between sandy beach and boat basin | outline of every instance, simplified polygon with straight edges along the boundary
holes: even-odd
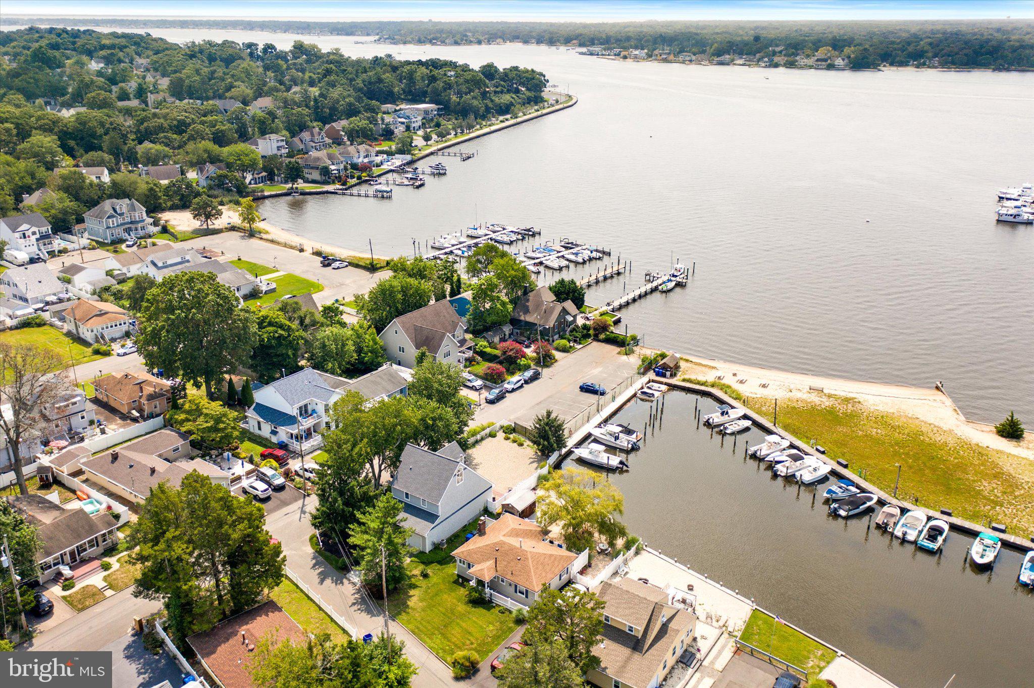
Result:
[[[751,398],[751,408],[771,417],[772,400]],[[1024,537],[1034,534],[1034,462],[989,449],[911,416],[866,408],[846,397],[779,401],[779,424],[797,438],[815,440],[831,459],[921,506],[949,508],[972,523],[991,519]]]

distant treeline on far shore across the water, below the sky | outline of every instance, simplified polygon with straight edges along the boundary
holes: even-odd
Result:
[[[1034,22],[314,22],[247,19],[57,19],[7,17],[4,24],[118,28],[231,29],[379,36],[400,43],[479,44],[514,41],[675,54],[798,55],[822,48],[855,67],[930,64],[996,69],[1034,68]]]

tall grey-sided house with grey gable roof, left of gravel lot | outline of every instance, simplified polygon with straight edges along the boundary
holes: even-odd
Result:
[[[406,444],[391,493],[402,502],[402,525],[413,529],[409,546],[430,552],[474,521],[492,497],[492,483],[465,464],[456,442],[437,451]]]

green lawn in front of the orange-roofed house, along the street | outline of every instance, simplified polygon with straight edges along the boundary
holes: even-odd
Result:
[[[388,609],[446,662],[461,650],[473,650],[485,659],[517,629],[510,611],[466,601],[451,557],[440,564],[427,564],[430,575],[426,578],[420,576],[423,566],[418,561],[409,563],[410,586],[388,598]]]

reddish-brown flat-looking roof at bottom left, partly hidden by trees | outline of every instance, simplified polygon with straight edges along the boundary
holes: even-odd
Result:
[[[283,640],[302,643],[305,632],[270,600],[226,619],[211,630],[191,635],[187,643],[223,688],[251,688],[253,684],[248,673],[251,650],[265,636],[276,644]]]

